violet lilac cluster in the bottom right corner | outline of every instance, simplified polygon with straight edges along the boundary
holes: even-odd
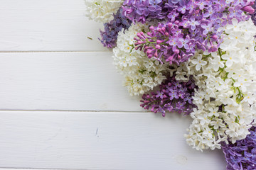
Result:
[[[236,169],[256,169],[256,128],[250,129],[250,135],[244,140],[239,140],[235,144],[222,145],[228,170]]]

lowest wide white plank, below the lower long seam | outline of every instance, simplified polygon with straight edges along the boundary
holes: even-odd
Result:
[[[220,150],[198,152],[191,119],[154,113],[0,112],[0,167],[224,170]]]

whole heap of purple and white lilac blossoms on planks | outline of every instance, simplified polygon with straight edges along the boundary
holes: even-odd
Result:
[[[90,18],[110,21],[99,39],[142,108],[190,115],[188,145],[222,148],[229,170],[256,170],[255,0],[87,4]]]

